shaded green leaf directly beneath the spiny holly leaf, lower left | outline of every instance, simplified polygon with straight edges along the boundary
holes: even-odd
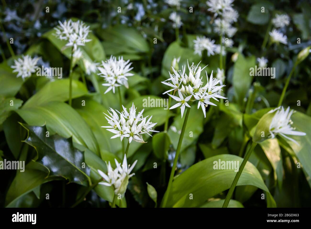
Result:
[[[39,185],[52,180],[63,179],[48,175],[48,169],[38,162],[31,161],[26,165],[24,172],[17,172],[10,188],[7,191],[5,203],[7,207],[12,207],[11,203],[18,198],[30,193]],[[12,203],[13,204],[13,203]]]

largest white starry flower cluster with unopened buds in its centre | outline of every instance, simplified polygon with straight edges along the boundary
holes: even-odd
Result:
[[[219,94],[220,91],[222,91],[221,88],[224,87],[225,85],[217,86],[220,80],[213,78],[213,72],[211,73],[210,79],[208,79],[207,72],[206,72],[207,83],[205,86],[203,86],[201,72],[206,66],[201,69],[201,67],[199,67],[198,65],[196,66],[194,65],[194,63],[192,63],[192,65],[189,66],[189,63],[188,63],[188,70],[189,70],[188,74],[185,73],[186,65],[184,65],[182,67],[182,70],[179,70],[179,71],[176,71],[174,68],[172,68],[174,74],[171,74],[169,72],[170,78],[162,82],[165,85],[168,85],[172,88],[164,92],[163,94],[168,93],[173,90],[174,90],[174,93],[176,91],[178,92],[179,97],[168,94],[170,97],[172,97],[174,100],[178,102],[172,107],[170,107],[169,109],[180,107],[181,117],[183,117],[183,112],[185,110],[185,107],[186,106],[190,107],[190,105],[187,103],[188,101],[197,100],[198,101],[197,108],[199,109],[199,107],[201,106],[202,111],[204,113],[204,117],[206,117],[205,108],[208,105],[216,106],[216,104],[210,102],[210,99],[213,98],[216,101],[219,101],[217,98],[225,98]],[[167,82],[167,81],[170,81],[170,82]]]

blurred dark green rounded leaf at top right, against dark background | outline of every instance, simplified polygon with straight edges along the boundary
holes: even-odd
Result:
[[[264,7],[264,9],[262,9]],[[264,12],[262,12],[264,10]],[[251,7],[247,15],[247,21],[256,24],[264,25],[269,21],[270,14],[268,7],[265,4],[258,3]]]

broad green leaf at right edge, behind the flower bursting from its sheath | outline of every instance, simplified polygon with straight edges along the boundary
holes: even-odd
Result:
[[[305,136],[293,136],[289,137],[298,142],[299,145],[295,144],[293,141],[285,139],[290,147],[295,152],[297,158],[301,163],[301,168],[304,171],[306,179],[311,187],[311,117],[301,113],[294,112],[291,116],[291,120],[293,121],[292,126],[295,127],[296,131],[302,131],[306,133]],[[294,169],[297,169],[294,167]]]

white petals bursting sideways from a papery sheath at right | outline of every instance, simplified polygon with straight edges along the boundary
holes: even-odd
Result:
[[[291,115],[293,114],[294,110],[290,111],[290,107],[287,107],[286,110],[284,110],[284,107],[277,107],[276,109],[273,109],[269,111],[268,113],[275,112],[274,117],[272,118],[270,127],[269,127],[269,136],[271,138],[275,138],[276,135],[281,135],[285,137],[286,139],[295,142],[297,145],[298,142],[294,139],[286,136],[286,135],[298,135],[298,136],[304,136],[306,133],[295,131],[295,128],[291,125],[293,122],[290,120]]]

